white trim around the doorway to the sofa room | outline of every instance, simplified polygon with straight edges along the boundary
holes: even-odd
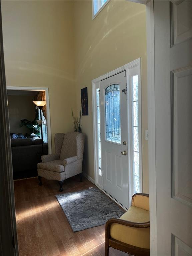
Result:
[[[49,107],[49,88],[48,87],[27,87],[27,86],[7,86],[7,90],[17,91],[44,91],[46,97],[46,112],[47,112],[47,139],[48,139],[48,154],[52,154],[51,144],[51,118]]]

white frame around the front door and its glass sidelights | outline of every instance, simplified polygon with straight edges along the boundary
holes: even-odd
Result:
[[[138,104],[138,109],[139,109],[139,165],[140,165],[140,191],[143,191],[143,186],[142,186],[142,122],[141,122],[141,58],[138,58],[136,60],[133,60],[129,62],[126,65],[123,65],[113,71],[110,71],[107,74],[101,75],[100,77],[92,80],[92,109],[93,109],[93,145],[94,145],[94,178],[95,178],[95,185],[100,188],[103,192],[103,180],[102,177],[99,176],[98,174],[98,146],[97,146],[97,105],[96,105],[96,89],[100,88],[100,81],[106,78],[109,78],[111,76],[114,76],[122,71],[126,72],[126,82],[127,85],[129,83],[129,70],[133,67],[138,67],[138,98],[139,98],[139,104]],[[131,97],[129,87],[127,90],[128,97]],[[130,120],[130,115],[131,115],[131,108],[130,105],[127,104],[128,111],[127,111],[127,120]],[[128,132],[127,132],[127,138],[128,138],[128,154],[127,157],[130,157],[132,159],[132,138],[131,138],[131,124],[128,122]],[[131,203],[131,194],[133,191],[133,186],[132,186],[132,161],[129,161],[128,159],[128,170],[129,170],[129,205]],[[105,192],[106,193],[106,192]],[[106,193],[108,196],[110,196],[108,193]],[[120,204],[121,205],[121,204]],[[122,206],[122,205],[121,205]],[[125,208],[125,207],[123,207]],[[126,208],[125,208],[126,209]]]

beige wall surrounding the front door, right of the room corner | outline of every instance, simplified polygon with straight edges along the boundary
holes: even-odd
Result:
[[[143,191],[148,192],[147,63],[145,6],[129,1],[110,1],[92,20],[91,1],[74,2],[75,84],[77,109],[80,89],[88,87],[89,116],[82,117],[87,135],[85,172],[94,178],[91,80],[141,57]]]

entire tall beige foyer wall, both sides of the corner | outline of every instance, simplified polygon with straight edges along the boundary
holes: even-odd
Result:
[[[92,20],[91,1],[2,1],[2,18],[7,85],[49,88],[52,141],[56,132],[73,129],[71,107],[78,113],[80,89],[88,87],[89,116],[82,117],[82,127],[84,171],[91,178],[91,80],[141,57],[143,187],[148,192],[145,6],[111,0]]]

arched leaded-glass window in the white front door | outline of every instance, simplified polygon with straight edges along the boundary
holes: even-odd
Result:
[[[105,139],[121,144],[119,84],[105,89]]]

